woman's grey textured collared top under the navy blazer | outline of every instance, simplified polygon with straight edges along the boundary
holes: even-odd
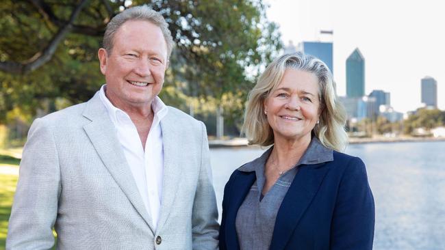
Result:
[[[333,159],[333,151],[325,148],[314,137],[300,161],[280,176],[268,193],[262,197],[262,189],[266,181],[264,166],[270,152],[272,148],[257,159],[257,164],[246,164],[238,169],[246,172],[255,171],[257,177],[236,216],[236,233],[241,250],[269,249],[279,207],[298,172],[299,165],[324,163]]]

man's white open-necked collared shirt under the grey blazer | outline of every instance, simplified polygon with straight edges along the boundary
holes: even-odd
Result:
[[[159,97],[151,104],[154,117],[145,143],[145,150],[136,126],[129,115],[114,107],[105,96],[105,85],[102,85],[99,96],[105,105],[108,115],[116,127],[116,133],[122,146],[125,158],[136,181],[145,208],[151,215],[153,230],[156,230],[162,198],[162,173],[164,171],[164,148],[160,121],[168,108]]]

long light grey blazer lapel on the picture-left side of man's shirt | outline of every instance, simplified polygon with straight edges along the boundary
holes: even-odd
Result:
[[[120,143],[115,135],[116,130],[100,100],[99,92],[87,102],[84,116],[91,120],[89,124],[84,126],[84,130],[90,137],[97,154],[99,154],[103,164],[110,171],[120,189],[122,189],[123,193],[125,193],[131,204],[133,204],[153,232],[151,217],[149,212],[147,212],[147,208],[145,208],[144,202],[142,202],[142,197],[136,186],[133,174],[129,169],[125,154],[123,154],[123,150],[120,148]]]

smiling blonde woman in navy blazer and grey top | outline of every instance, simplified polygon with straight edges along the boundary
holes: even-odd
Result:
[[[374,199],[346,147],[344,109],[319,59],[283,55],[251,90],[242,130],[272,145],[227,182],[220,249],[372,249]]]

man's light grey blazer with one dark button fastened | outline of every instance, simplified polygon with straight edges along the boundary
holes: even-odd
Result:
[[[98,93],[35,120],[23,150],[6,249],[50,249],[52,227],[58,249],[217,249],[205,126],[169,107],[161,128],[162,204],[153,230]]]

